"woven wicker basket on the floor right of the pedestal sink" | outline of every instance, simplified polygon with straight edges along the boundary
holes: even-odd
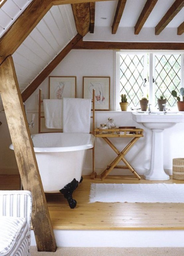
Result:
[[[184,158],[174,158],[172,160],[173,179],[184,180]]]

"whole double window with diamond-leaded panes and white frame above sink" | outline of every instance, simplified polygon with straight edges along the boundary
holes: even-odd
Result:
[[[184,87],[183,53],[137,51],[117,52],[116,56],[116,109],[119,110],[121,94],[127,95],[129,109],[140,108],[139,100],[148,97],[151,110],[156,111],[157,99],[162,95],[167,99],[168,109],[177,107],[176,98],[171,92],[176,90],[177,96],[181,98],[180,88]]]

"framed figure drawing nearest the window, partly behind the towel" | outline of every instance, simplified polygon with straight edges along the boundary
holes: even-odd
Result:
[[[95,89],[95,110],[110,110],[110,77],[83,77],[83,98],[92,99]]]

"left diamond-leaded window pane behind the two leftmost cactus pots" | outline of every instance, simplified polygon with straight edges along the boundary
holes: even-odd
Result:
[[[127,95],[131,107],[137,107],[144,94],[144,58],[144,54],[120,55],[120,95]]]

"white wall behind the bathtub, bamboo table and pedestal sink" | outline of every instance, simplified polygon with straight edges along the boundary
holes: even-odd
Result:
[[[95,126],[108,121],[112,117],[118,126],[136,126],[144,129],[144,137],[130,149],[126,159],[133,168],[140,174],[149,169],[151,157],[151,131],[137,124],[132,120],[131,112],[113,111],[114,97],[114,52],[112,50],[72,50],[63,61],[54,69],[50,76],[76,76],[77,77],[77,97],[82,98],[83,76],[110,76],[110,110],[97,111]],[[49,79],[45,79],[40,85],[44,98],[48,98]],[[38,88],[38,89],[39,89]],[[31,133],[38,132],[38,89],[25,102],[28,121],[31,120],[31,114],[35,113],[35,127],[30,128]],[[10,150],[11,143],[5,113],[0,113],[0,173],[12,173],[17,168],[14,153]],[[42,125],[42,130],[44,129]],[[172,158],[184,157],[184,124],[177,124],[174,127],[164,131],[164,169],[168,174],[172,174]],[[127,138],[113,138],[118,150],[122,150],[129,142]],[[159,147],[159,145],[158,145]],[[100,174],[114,160],[116,154],[101,138],[95,140],[95,167]],[[159,160],[159,159],[158,159]],[[122,165],[123,163],[120,162]],[[88,150],[84,164],[83,174],[90,174],[92,171],[92,150]],[[129,170],[113,170],[111,174],[131,174]]]

